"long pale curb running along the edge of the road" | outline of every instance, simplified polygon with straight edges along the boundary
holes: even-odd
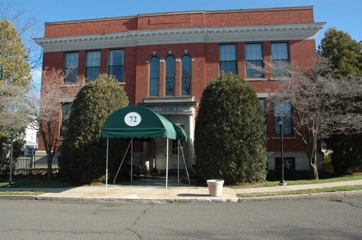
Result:
[[[349,198],[362,196],[362,190],[341,191],[334,193],[310,193],[298,195],[279,195],[252,198],[194,198],[194,199],[151,199],[151,198],[72,198],[72,197],[42,197],[28,195],[0,195],[0,200],[52,200],[59,202],[76,202],[76,203],[250,203],[266,200],[300,200],[300,199],[323,199],[323,198]]]

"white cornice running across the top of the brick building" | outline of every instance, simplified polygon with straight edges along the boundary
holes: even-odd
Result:
[[[226,42],[257,40],[314,39],[325,23],[259,25],[223,28],[179,28],[138,30],[104,35],[35,38],[44,52],[97,49],[102,47],[132,47],[148,44],[187,42]]]

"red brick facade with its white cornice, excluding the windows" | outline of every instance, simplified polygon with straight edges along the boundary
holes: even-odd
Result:
[[[158,56],[159,94],[155,98],[165,104],[165,99],[169,97],[165,95],[166,56],[172,54],[175,57],[175,98],[182,98],[180,59],[184,54],[191,57],[191,95],[194,102],[200,102],[202,91],[209,80],[220,75],[220,44],[235,44],[237,73],[241,78],[246,77],[245,43],[261,43],[262,59],[271,64],[271,43],[286,42],[292,66],[308,69],[315,64],[314,37],[322,25],[314,23],[312,7],[160,13],[46,23],[45,37],[36,41],[45,50],[43,67],[63,68],[64,53],[78,52],[78,83],[86,82],[88,50],[100,51],[100,73],[107,73],[109,50],[124,49],[122,87],[127,92],[130,104],[142,104],[152,98],[148,94],[149,60],[151,56]],[[258,97],[278,90],[278,82],[271,78],[270,73],[261,79],[247,79]],[[194,109],[193,119],[197,114],[197,106]],[[193,129],[190,131],[193,135]],[[274,133],[272,112],[267,113],[267,137],[269,169],[273,169],[270,160],[278,155],[280,142]],[[192,149],[192,146],[189,148]],[[44,150],[41,140],[39,149]],[[284,150],[292,156],[292,152],[303,152],[304,148],[300,139],[294,136],[285,140]],[[194,157],[192,153],[189,156]],[[305,164],[302,165],[297,168],[305,168]]]

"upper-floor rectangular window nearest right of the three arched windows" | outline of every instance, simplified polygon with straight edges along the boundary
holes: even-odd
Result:
[[[220,73],[237,73],[235,44],[220,44]]]

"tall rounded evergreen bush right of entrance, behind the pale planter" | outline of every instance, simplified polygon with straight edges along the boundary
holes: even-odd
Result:
[[[228,74],[202,94],[195,125],[196,171],[203,179],[263,181],[267,170],[265,118],[251,85]]]

